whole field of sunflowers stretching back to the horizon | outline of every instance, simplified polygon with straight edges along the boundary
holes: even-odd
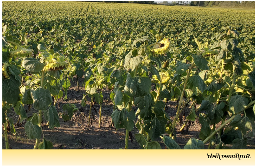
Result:
[[[255,149],[255,10],[2,6],[6,149]]]

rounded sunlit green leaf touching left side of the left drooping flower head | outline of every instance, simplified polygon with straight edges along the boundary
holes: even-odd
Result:
[[[27,71],[32,71],[32,72],[39,72],[42,71],[43,68],[45,67],[45,64],[40,63],[37,59],[32,58],[32,57],[26,57],[22,61],[22,66],[27,70]]]

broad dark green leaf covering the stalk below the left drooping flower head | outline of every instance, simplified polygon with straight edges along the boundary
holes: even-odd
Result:
[[[52,102],[51,93],[48,89],[37,88],[31,89],[33,107],[37,110],[46,110]]]

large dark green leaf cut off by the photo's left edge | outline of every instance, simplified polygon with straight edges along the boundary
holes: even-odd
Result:
[[[11,104],[16,104],[20,100],[19,97],[19,86],[21,85],[20,81],[17,81],[13,75],[8,79],[3,79],[2,84],[2,93],[4,94],[3,101],[6,101]]]

